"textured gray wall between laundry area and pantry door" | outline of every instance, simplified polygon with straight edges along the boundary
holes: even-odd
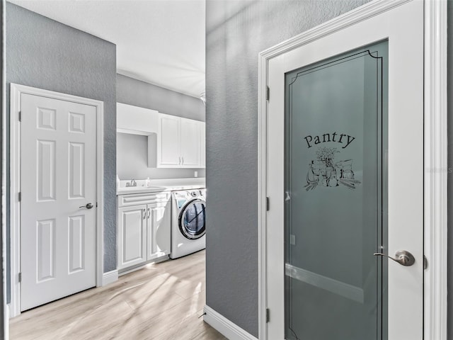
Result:
[[[258,336],[258,53],[367,0],[206,4],[207,305]]]

